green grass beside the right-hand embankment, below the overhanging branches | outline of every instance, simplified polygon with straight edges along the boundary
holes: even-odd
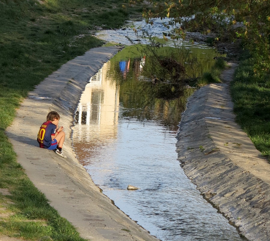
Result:
[[[236,121],[270,160],[270,75],[256,76],[252,58],[244,58],[231,85]]]

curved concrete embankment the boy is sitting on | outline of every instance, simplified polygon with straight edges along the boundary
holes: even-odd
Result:
[[[64,64],[29,93],[6,134],[28,177],[82,237],[95,241],[157,241],[100,192],[72,149],[71,126],[80,94],[90,77],[119,50],[94,48]],[[61,116],[59,125],[66,132],[63,151],[67,159],[39,148],[36,141],[39,127],[51,110]]]

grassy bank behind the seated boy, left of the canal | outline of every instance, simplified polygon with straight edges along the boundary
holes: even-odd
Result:
[[[0,1],[0,236],[83,240],[29,181],[5,129],[35,85],[63,63],[103,44],[91,32],[117,28],[139,12],[139,6],[117,0]]]

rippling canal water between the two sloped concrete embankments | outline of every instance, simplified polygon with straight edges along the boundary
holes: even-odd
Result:
[[[216,53],[199,52],[211,66]],[[116,206],[163,241],[242,240],[177,161],[177,125],[193,88],[159,98],[152,82],[140,80],[144,64],[124,49],[89,79],[74,116],[78,160]]]

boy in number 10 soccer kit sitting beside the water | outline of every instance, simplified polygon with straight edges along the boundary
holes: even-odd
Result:
[[[65,141],[65,132],[63,126],[58,128],[60,116],[56,111],[51,111],[47,115],[47,121],[44,122],[39,131],[37,141],[39,147],[48,150],[54,150],[56,154],[67,158],[62,152],[62,146]]]

